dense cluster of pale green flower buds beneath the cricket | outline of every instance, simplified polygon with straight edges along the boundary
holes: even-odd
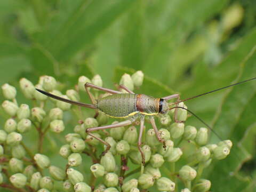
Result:
[[[133,91],[134,87],[139,88],[142,85],[143,76],[142,71],[132,75],[124,74],[119,84]],[[137,122],[130,126],[99,130],[89,134],[86,133],[88,128],[115,124],[117,121],[110,121],[110,118],[100,111],[94,116],[84,116],[84,111],[89,109],[71,107],[70,103],[46,97],[36,91],[40,89],[65,99],[80,101],[81,94],[85,97],[84,85],[87,82],[97,86],[103,84],[99,75],[92,79],[81,76],[75,89],[62,94],[54,77],[42,76],[36,85],[22,78],[20,90],[25,98],[32,101],[28,103],[33,105],[19,105],[16,100],[19,91],[9,84],[2,86],[2,93],[6,99],[2,103],[2,108],[6,120],[3,129],[0,130],[0,189],[3,187],[14,191],[24,189],[40,192],[138,192],[152,187],[154,191],[174,191],[175,188],[177,190],[178,183],[183,192],[205,192],[210,189],[211,182],[201,178],[202,171],[211,164],[212,159],[220,160],[227,157],[232,143],[225,140],[209,144],[209,133],[206,128],[197,129],[185,123],[175,123],[174,118],[178,120],[176,122],[186,121],[187,110],[172,109],[169,113],[159,116],[158,134],[164,141],[164,146],[158,141],[155,130],[148,129],[150,126],[146,124],[139,151]],[[92,91],[90,88],[87,90],[92,92],[93,99],[106,96],[101,91]],[[182,102],[179,103],[179,107],[187,108]],[[77,124],[71,125],[67,122],[72,114],[77,119]],[[70,131],[70,126],[73,126],[73,131]],[[66,135],[62,137],[63,131]],[[26,139],[27,133],[38,137],[38,146],[28,147],[31,143]],[[54,158],[44,149],[48,145],[45,141],[46,134],[51,138],[55,137],[56,140],[61,138],[58,142],[62,142],[62,146],[58,148],[59,151],[53,153]],[[103,153],[107,149],[107,145],[103,143],[110,145],[107,153]],[[187,146],[192,146],[193,149],[189,152],[191,159],[183,157]],[[141,153],[146,164],[142,164]],[[56,156],[60,157],[59,162],[64,163],[52,165],[51,162],[56,162]],[[187,164],[179,164],[180,169],[175,170],[175,163],[186,161]],[[85,166],[88,167],[87,170],[83,164],[90,164]],[[162,175],[166,170],[171,173],[169,177]]]

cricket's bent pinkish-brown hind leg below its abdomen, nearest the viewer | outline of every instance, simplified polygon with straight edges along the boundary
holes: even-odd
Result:
[[[102,142],[104,145],[107,146],[107,148],[105,149],[105,151],[103,151],[103,153],[101,154],[101,156],[105,155],[108,150],[110,149],[110,145],[108,142],[102,140],[101,138],[96,137],[95,135],[93,135],[91,132],[92,131],[98,131],[98,130],[105,130],[105,129],[109,129],[109,128],[116,128],[116,127],[121,127],[121,126],[127,126],[127,125],[131,125],[133,123],[133,120],[125,120],[116,124],[112,124],[112,125],[105,125],[105,126],[99,126],[99,127],[92,127],[92,128],[87,128],[86,129],[86,133],[88,135],[90,135],[91,137],[97,139],[98,141]]]

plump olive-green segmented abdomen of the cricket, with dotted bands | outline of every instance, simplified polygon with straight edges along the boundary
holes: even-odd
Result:
[[[113,94],[99,99],[97,106],[105,114],[113,117],[126,117],[137,110],[137,94]]]

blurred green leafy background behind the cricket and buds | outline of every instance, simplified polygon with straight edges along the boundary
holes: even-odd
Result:
[[[255,20],[254,0],[2,0],[0,84],[51,75],[66,90],[99,74],[114,88],[123,73],[142,70],[136,92],[185,99],[256,76]],[[255,93],[256,81],[186,103],[235,144],[205,173],[212,191],[253,191]]]

